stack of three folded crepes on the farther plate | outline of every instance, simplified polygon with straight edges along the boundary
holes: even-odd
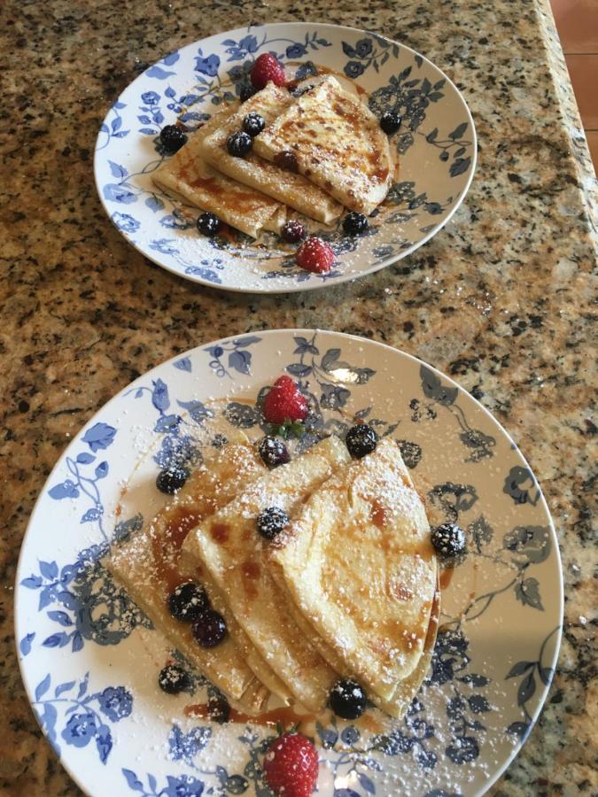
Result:
[[[249,236],[280,231],[289,213],[330,225],[344,207],[371,213],[388,192],[395,166],[388,138],[360,97],[331,75],[300,97],[270,82],[244,104],[218,112],[152,175],[175,197],[215,213]],[[243,158],[229,135],[250,112],[266,122]],[[281,153],[291,153],[292,170]]]

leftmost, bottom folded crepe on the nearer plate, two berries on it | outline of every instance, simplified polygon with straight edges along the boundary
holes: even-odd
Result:
[[[167,597],[178,584],[195,580],[204,584],[212,606],[222,615],[228,612],[219,592],[212,588],[209,574],[197,562],[180,557],[183,539],[206,515],[227,504],[242,487],[267,472],[254,447],[243,433],[230,442],[213,460],[198,468],[171,503],[159,512],[146,529],[113,546],[106,567],[123,584],[128,594],[151,618],[184,657],[199,669],[233,706],[256,711],[268,700],[268,689],[260,684],[245,661],[246,654],[229,634],[220,645],[204,648],[193,638],[190,625],[176,621],[167,608]]]

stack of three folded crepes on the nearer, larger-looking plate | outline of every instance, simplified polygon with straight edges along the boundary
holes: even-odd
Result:
[[[256,518],[275,506],[290,523],[268,541]],[[402,716],[429,665],[437,561],[390,439],[353,461],[329,437],[268,471],[240,436],[108,566],[190,663],[252,714],[273,696],[318,714],[348,677]],[[169,592],[189,580],[226,619],[219,646],[198,646],[168,614]]]

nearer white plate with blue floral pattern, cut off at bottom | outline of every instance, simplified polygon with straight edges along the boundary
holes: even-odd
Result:
[[[212,422],[204,402],[225,399],[228,422],[257,437],[253,402],[284,371],[310,393],[319,425],[342,433],[359,414],[400,441],[415,479],[469,538],[408,716],[384,738],[360,721],[321,728],[319,793],[483,793],[530,731],[555,666],[563,584],[548,509],[509,436],[467,392],[408,354],[334,332],[199,346],[137,379],[69,445],[19,560],[19,660],[35,715],[90,794],[195,795],[198,784],[268,793],[259,769],[268,731],[187,719],[185,705],[205,697],[160,692],[167,647],[98,558],[164,502],[159,466],[193,455]]]

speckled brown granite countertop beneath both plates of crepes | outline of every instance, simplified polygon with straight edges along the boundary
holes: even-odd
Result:
[[[491,793],[597,793],[596,180],[548,0],[49,0],[4,4],[0,15],[0,792],[79,793],[35,722],[12,627],[20,542],[69,437],[176,352],[249,330],[321,327],[395,345],[454,376],[530,461],[561,544],[563,646],[540,722]],[[134,251],[105,216],[92,176],[97,128],[162,54],[287,19],[369,28],[444,68],[478,128],[470,193],[429,244],[357,282],[286,297],[185,282]]]

